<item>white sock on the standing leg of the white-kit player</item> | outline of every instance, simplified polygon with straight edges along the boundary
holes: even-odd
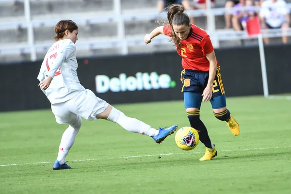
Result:
[[[69,125],[69,127],[63,133],[61,144],[59,146],[59,154],[57,158],[60,164],[65,163],[65,157],[75,142],[76,135],[81,128],[81,124],[82,119],[79,116],[77,122],[74,125]]]

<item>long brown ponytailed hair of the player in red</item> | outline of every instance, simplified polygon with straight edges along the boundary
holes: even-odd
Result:
[[[173,4],[168,7],[167,18],[169,20],[169,24],[171,25],[171,31],[172,31],[171,41],[173,41],[175,45],[177,45],[177,48],[181,46],[181,42],[178,36],[174,32],[173,25],[174,24],[177,26],[190,25],[190,18],[187,14],[184,13],[184,9],[185,8],[183,5],[178,5],[178,4]]]

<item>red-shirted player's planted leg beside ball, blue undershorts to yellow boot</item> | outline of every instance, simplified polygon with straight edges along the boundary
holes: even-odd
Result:
[[[200,107],[202,102],[202,94],[198,92],[184,92],[184,105],[190,126],[199,133],[199,140],[205,145],[206,153],[200,161],[210,160],[217,155],[217,151],[212,144],[208,131],[204,123],[200,119]]]

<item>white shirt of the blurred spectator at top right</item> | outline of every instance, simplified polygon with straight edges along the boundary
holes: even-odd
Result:
[[[287,21],[286,14],[289,14],[289,8],[284,0],[276,0],[274,3],[272,0],[265,0],[259,12],[259,16],[264,17],[266,23],[273,28],[281,27]]]

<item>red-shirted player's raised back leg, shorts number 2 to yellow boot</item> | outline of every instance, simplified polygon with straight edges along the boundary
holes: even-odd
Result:
[[[226,121],[229,130],[234,135],[240,134],[240,126],[226,109],[226,95],[220,75],[220,67],[217,67],[216,77],[213,82],[212,98],[210,99],[215,117],[221,121]]]

